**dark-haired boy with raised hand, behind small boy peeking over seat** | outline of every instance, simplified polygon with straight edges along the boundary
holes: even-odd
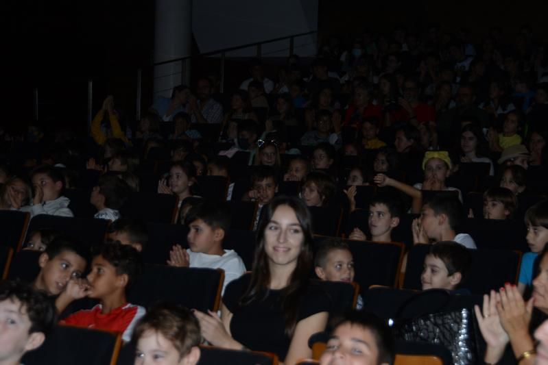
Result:
[[[368,225],[373,242],[392,242],[392,229],[400,224],[403,207],[400,199],[394,194],[377,194],[369,202]],[[367,240],[359,228],[355,228],[350,240]]]

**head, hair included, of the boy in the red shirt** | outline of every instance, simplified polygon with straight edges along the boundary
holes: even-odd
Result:
[[[104,299],[112,294],[126,293],[143,270],[141,253],[120,242],[106,242],[93,251],[88,297]]]

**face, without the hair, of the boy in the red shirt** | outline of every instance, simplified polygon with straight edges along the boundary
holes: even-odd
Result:
[[[102,255],[93,257],[91,272],[87,279],[88,297],[95,299],[104,298],[127,284],[127,275],[117,275],[115,266],[112,266]]]

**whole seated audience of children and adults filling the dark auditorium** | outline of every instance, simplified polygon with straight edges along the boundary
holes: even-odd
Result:
[[[0,283],[0,316],[21,332],[0,344],[0,360],[19,361],[40,347],[57,321],[121,333],[136,346],[135,364],[158,354],[165,364],[196,364],[202,340],[296,364],[311,357],[307,342],[328,323],[322,281],[355,279],[360,257],[345,240],[394,242],[405,232],[407,250],[431,244],[422,290],[468,295],[466,282],[482,279],[469,277],[471,250],[482,242],[464,223],[498,220],[525,225],[529,251],[517,286],[486,293],[475,308],[484,360],[498,362],[510,344],[520,364],[532,364],[534,336],[539,351],[548,346],[541,325],[548,318],[548,55],[528,28],[520,39],[527,47],[505,44],[495,31],[475,45],[437,27],[420,37],[365,32],[352,49],[324,45],[312,62],[289,58],[278,83],[253,60],[250,78],[230,98],[208,77],[195,88],[177,86],[137,124],[122,121],[109,96],[90,136],[60,143],[59,134],[32,125],[22,143],[39,152],[5,153],[0,209],[73,217],[82,210],[70,197],[86,192],[91,216],[110,223],[93,250],[56,229],[28,232],[23,249],[40,251],[40,270],[29,286]],[[223,181],[221,199],[204,184],[211,177]],[[188,247],[167,242],[166,265],[224,270],[219,312],[128,303],[149,237],[147,224],[124,207],[141,192],[173,196],[171,224],[188,229]],[[254,207],[252,267],[224,248],[240,214],[229,209],[235,202]],[[338,237],[315,244],[314,234],[333,222]],[[407,257],[402,273],[406,265]],[[78,303],[89,305],[75,311]],[[359,295],[355,309],[362,307]],[[379,318],[351,312],[329,329],[320,364],[394,360]]]

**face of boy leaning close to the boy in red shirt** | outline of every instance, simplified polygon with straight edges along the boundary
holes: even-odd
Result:
[[[86,269],[86,260],[78,253],[66,250],[51,260],[47,253],[43,253],[38,259],[38,265],[41,268],[38,289],[45,290],[49,295],[57,295],[67,287],[70,279],[82,276]]]

